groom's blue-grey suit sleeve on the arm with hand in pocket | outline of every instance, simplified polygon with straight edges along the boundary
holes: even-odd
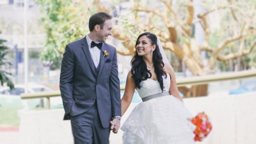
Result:
[[[67,45],[65,53],[63,54],[61,70],[60,70],[60,82],[59,89],[61,93],[61,98],[63,106],[65,109],[65,115],[70,114],[71,107],[73,104],[73,95],[72,95],[72,80],[74,75],[74,56],[70,49],[70,46]]]

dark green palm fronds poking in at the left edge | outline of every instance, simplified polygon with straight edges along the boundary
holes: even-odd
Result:
[[[0,66],[2,66],[2,65],[11,65],[11,63],[7,62],[6,59],[4,58],[5,55],[7,54],[6,50],[8,49],[8,47],[3,44],[4,42],[6,42],[6,40],[0,39]],[[4,83],[7,83],[7,86],[9,86],[10,89],[13,89],[14,84],[8,78],[8,76],[11,76],[11,73],[7,73],[6,71],[0,69],[1,85],[3,86]]]

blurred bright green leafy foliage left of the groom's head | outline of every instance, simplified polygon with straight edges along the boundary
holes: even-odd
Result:
[[[84,2],[72,0],[37,0],[44,22],[47,41],[41,52],[42,61],[53,62],[51,69],[59,68],[65,46],[86,34],[88,12]]]

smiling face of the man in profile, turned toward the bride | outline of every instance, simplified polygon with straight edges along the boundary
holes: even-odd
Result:
[[[97,33],[97,40],[100,42],[105,42],[106,38],[108,38],[109,35],[112,35],[112,20],[107,19],[104,22],[103,28],[99,29]]]

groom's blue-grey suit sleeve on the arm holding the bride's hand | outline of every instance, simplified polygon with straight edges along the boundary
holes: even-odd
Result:
[[[110,74],[110,93],[111,93],[112,117],[121,116],[120,81],[118,78],[116,49],[114,52],[111,74]]]

